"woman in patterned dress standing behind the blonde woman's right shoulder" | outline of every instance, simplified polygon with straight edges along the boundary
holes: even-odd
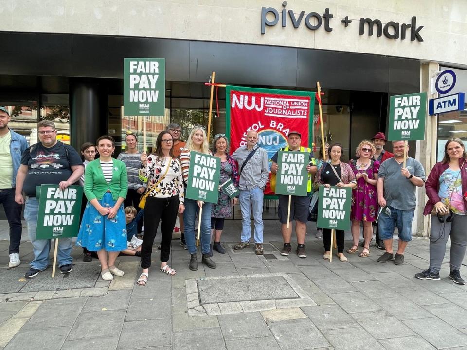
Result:
[[[238,167],[237,164],[229,155],[229,141],[225,134],[217,134],[213,139],[213,152],[214,157],[220,158],[220,180],[219,184],[232,179],[234,185],[238,187]],[[234,198],[234,205],[238,199]],[[225,254],[224,247],[220,244],[220,236],[224,229],[224,220],[226,217],[232,216],[232,200],[227,193],[219,188],[219,197],[217,204],[213,204],[211,210],[211,230],[214,230],[214,245],[213,249],[221,254]],[[213,232],[211,232],[211,235]],[[212,256],[212,250],[211,250]]]

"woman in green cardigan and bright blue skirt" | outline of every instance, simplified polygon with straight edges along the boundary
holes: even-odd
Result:
[[[125,274],[115,266],[115,259],[127,245],[123,200],[128,191],[128,176],[125,164],[112,158],[113,138],[101,136],[96,144],[100,157],[86,167],[84,193],[88,204],[76,244],[97,252],[102,279],[113,280],[113,275]]]

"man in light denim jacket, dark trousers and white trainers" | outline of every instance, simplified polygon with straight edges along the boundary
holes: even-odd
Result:
[[[24,136],[8,127],[10,113],[0,107],[0,203],[10,226],[10,247],[8,267],[16,267],[19,260],[19,244],[21,243],[21,205],[15,202],[16,175],[18,173],[21,154],[28,148]]]

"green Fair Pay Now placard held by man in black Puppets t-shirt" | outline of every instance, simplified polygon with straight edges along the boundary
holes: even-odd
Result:
[[[41,185],[36,239],[76,237],[82,198],[82,186]]]

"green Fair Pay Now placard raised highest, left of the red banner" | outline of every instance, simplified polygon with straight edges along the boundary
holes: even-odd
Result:
[[[165,115],[165,58],[125,58],[123,105],[126,116]]]

